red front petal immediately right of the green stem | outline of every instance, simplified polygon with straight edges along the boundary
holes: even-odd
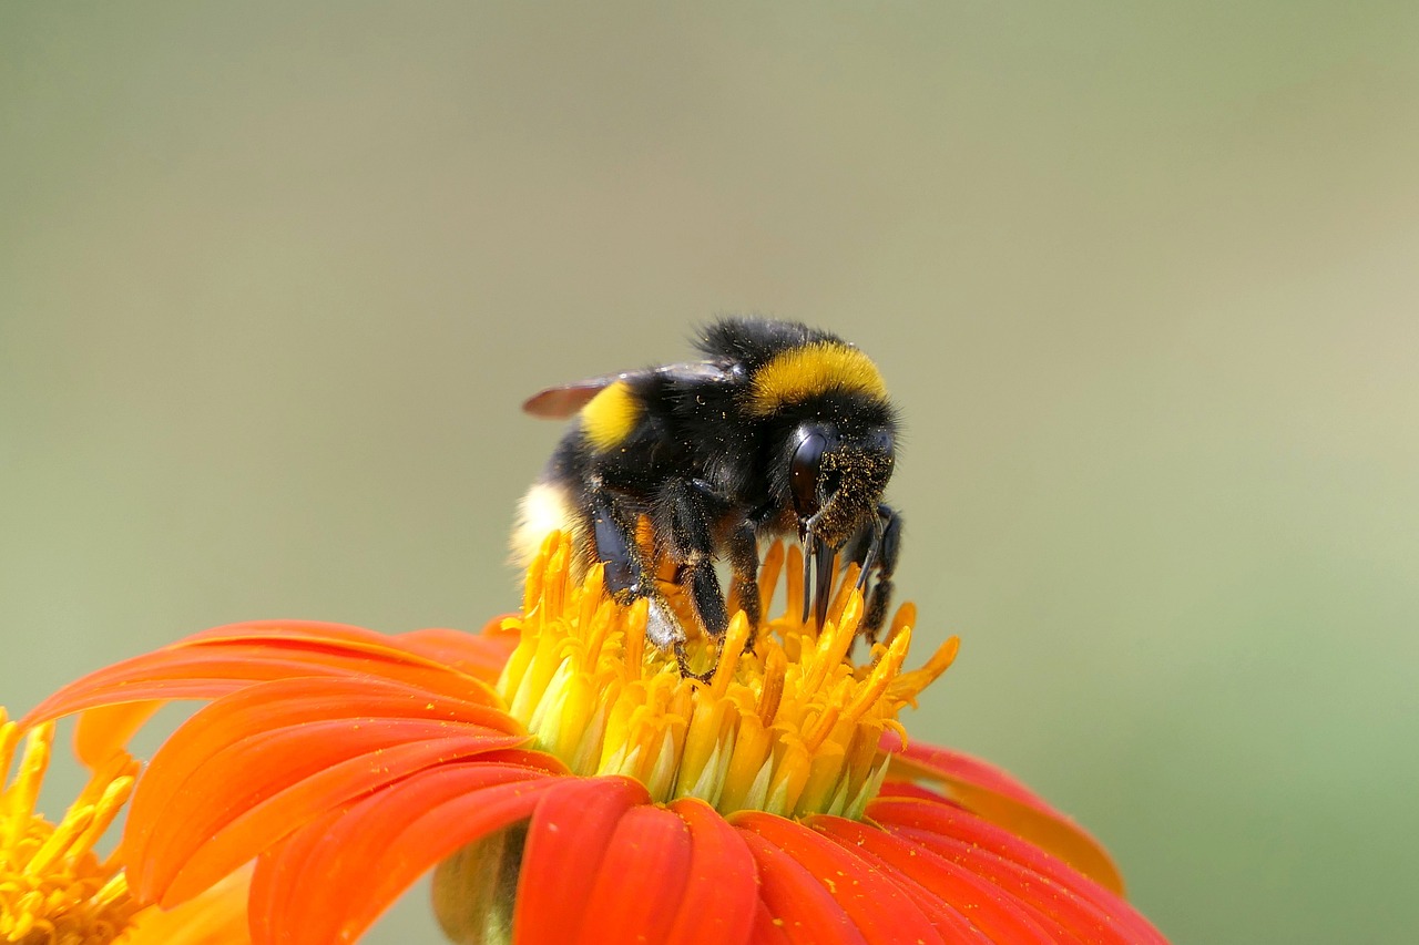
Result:
[[[646,788],[629,778],[568,778],[542,797],[522,850],[512,918],[518,945],[561,945],[580,928],[617,824],[644,803]]]

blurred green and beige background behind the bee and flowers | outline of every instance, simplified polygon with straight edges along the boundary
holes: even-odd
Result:
[[[914,732],[1178,942],[1412,941],[1416,50],[1412,3],[4,4],[0,701],[478,627],[521,399],[776,314],[905,411],[898,586],[964,640]]]

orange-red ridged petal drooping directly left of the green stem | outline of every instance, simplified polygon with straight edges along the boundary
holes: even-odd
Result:
[[[423,873],[525,820],[562,779],[480,759],[419,772],[309,822],[261,857],[255,945],[355,941]]]

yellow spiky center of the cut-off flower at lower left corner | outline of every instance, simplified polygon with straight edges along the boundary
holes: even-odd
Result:
[[[101,861],[94,844],[132,793],[138,765],[118,756],[95,770],[51,824],[34,805],[53,742],[53,722],[33,729],[14,782],[0,790],[0,942],[106,945],[138,907],[118,864]],[[18,744],[18,728],[0,708],[0,785]]]

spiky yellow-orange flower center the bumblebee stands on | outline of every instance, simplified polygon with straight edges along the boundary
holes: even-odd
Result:
[[[897,712],[951,665],[956,639],[922,668],[902,671],[915,619],[904,604],[854,664],[849,654],[863,616],[854,569],[843,575],[822,631],[796,619],[802,570],[797,548],[771,548],[759,575],[762,610],[786,572],[785,616],[766,620],[749,650],[751,629],[736,613],[718,663],[704,658],[715,671],[701,684],[647,644],[647,602],[612,600],[600,566],[576,583],[568,539],[552,534],[528,569],[522,614],[504,621],[521,641],[498,688],[538,746],[576,775],[626,775],[660,802],[700,797],[725,814],[860,817],[885,775],[883,734],[904,735]],[[704,639],[690,646],[715,650]]]

